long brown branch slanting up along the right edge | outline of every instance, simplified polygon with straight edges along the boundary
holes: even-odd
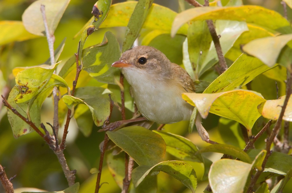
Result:
[[[287,82],[286,98],[284,100],[284,104],[282,106],[282,109],[281,109],[279,118],[277,120],[277,123],[274,126],[274,128],[272,130],[272,133],[271,133],[270,137],[268,138],[268,140],[266,142],[266,151],[267,151],[267,154],[266,154],[265,159],[263,161],[262,168],[265,168],[265,165],[267,163],[267,160],[270,157],[270,155],[272,154],[270,148],[271,148],[272,142],[274,141],[274,138],[276,137],[276,135],[278,134],[278,132],[279,132],[279,130],[281,128],[281,124],[282,124],[284,112],[285,112],[285,109],[286,109],[287,104],[288,104],[288,100],[289,100],[290,95],[291,95],[291,92],[292,92],[291,86],[292,86],[292,74],[289,73],[288,82]],[[260,177],[260,174],[262,172],[263,172],[263,170],[256,171],[255,175],[251,178],[251,182],[250,182],[250,185],[248,187],[247,193],[253,192],[253,187],[256,184],[256,181],[258,180],[258,178]]]

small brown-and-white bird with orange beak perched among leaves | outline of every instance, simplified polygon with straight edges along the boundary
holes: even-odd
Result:
[[[182,93],[194,93],[194,82],[179,65],[172,63],[156,48],[136,46],[125,51],[112,67],[120,67],[131,86],[130,94],[147,120],[171,124],[190,120],[194,107]],[[200,137],[209,143],[209,135],[198,114],[195,124]]]

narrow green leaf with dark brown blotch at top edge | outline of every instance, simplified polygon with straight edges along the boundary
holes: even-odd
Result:
[[[102,24],[102,22],[105,20],[105,18],[107,17],[107,14],[109,13],[109,8],[112,5],[112,0],[107,0],[107,1],[97,1],[94,4],[94,8],[93,10],[95,10],[95,8],[97,8],[97,12],[95,13],[95,19],[92,22],[92,25],[95,26],[95,29],[98,29],[100,27],[100,25]],[[93,11],[94,12],[94,11]]]

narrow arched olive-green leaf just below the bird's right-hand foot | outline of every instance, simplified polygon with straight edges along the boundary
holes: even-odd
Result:
[[[242,151],[239,147],[226,144],[213,144],[201,148],[197,153],[203,152],[217,152],[222,154],[231,155],[234,158],[239,158],[241,161],[251,164],[251,159],[248,157],[248,154]]]

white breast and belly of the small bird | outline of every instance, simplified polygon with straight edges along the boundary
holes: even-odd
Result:
[[[193,107],[181,97],[185,92],[181,87],[167,85],[159,77],[137,68],[122,69],[122,73],[132,86],[136,105],[143,117],[160,124],[190,119]]]

